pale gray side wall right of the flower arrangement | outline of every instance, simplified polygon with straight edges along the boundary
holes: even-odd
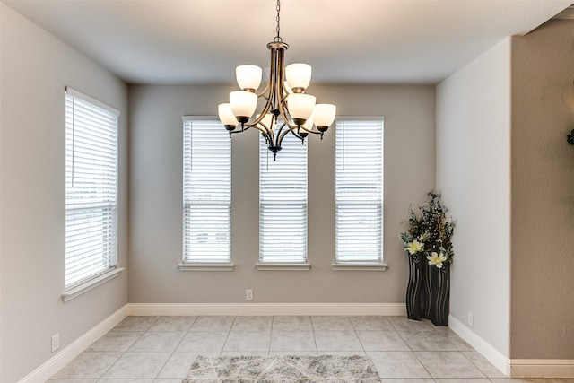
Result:
[[[510,40],[437,87],[437,187],[457,219],[450,313],[509,356]],[[467,325],[466,325],[467,326]]]

